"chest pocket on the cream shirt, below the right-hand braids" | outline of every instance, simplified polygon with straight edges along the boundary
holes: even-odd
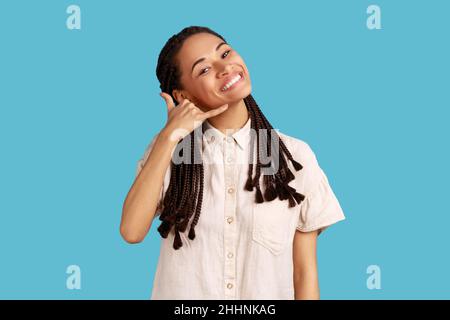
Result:
[[[274,255],[281,254],[292,241],[292,230],[298,219],[299,206],[288,207],[288,201],[273,201],[253,204],[252,238]]]

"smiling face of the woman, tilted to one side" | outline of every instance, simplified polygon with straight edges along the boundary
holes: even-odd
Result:
[[[183,90],[174,90],[200,109],[218,108],[247,97],[251,82],[244,60],[224,41],[209,33],[198,33],[185,40],[177,61]]]

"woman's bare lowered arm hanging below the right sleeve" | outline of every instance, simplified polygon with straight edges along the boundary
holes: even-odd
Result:
[[[317,236],[318,230],[310,232],[295,231],[293,258],[296,300],[317,300],[320,298],[316,252]]]

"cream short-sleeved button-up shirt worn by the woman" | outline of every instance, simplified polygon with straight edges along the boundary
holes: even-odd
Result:
[[[255,203],[255,191],[244,190],[250,147],[250,121],[229,138],[214,128],[203,135],[204,190],[196,237],[181,233],[183,246],[173,249],[174,231],[161,238],[151,299],[294,299],[293,239],[296,230],[322,232],[345,216],[328,179],[307,143],[278,131],[294,160],[289,182],[305,199],[293,208],[276,198]],[[136,176],[156,136],[138,161]],[[255,145],[256,153],[256,145]],[[254,174],[254,171],[253,171]],[[161,214],[170,182],[170,165],[153,223]],[[255,189],[254,189],[255,190]],[[261,180],[261,191],[264,187]]]

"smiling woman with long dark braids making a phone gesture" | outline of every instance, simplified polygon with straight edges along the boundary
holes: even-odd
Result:
[[[316,239],[345,217],[309,145],[273,129],[243,59],[209,28],[172,36],[156,74],[168,119],[120,226],[138,243],[161,221],[151,298],[318,299]]]

